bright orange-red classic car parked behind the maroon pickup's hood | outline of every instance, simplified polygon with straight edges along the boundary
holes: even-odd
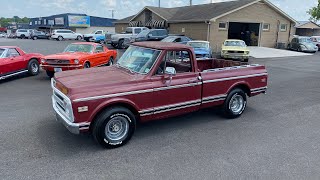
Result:
[[[117,51],[91,42],[73,43],[63,53],[45,56],[41,59],[41,67],[49,77],[55,72],[84,69],[90,67],[112,65]]]

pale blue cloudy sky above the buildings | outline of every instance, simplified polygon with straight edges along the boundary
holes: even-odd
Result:
[[[1,2],[2,1],[2,2]],[[144,6],[158,6],[158,0],[1,0],[0,17],[27,16],[39,17],[61,13],[85,13],[92,16],[111,17],[111,9],[115,10],[115,18],[121,19],[139,12]],[[212,0],[221,2],[227,0]],[[294,19],[308,20],[306,13],[317,0],[270,0]],[[193,0],[193,4],[210,3],[211,0]],[[189,0],[161,0],[162,7],[188,5]]]

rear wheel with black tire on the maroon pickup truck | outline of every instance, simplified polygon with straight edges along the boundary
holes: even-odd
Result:
[[[237,99],[239,98],[239,101]],[[242,99],[242,102],[241,102]],[[238,106],[232,107],[232,103],[237,101]],[[239,88],[233,89],[227,96],[223,104],[223,111],[227,118],[234,119],[240,117],[247,106],[247,95],[246,93]],[[237,108],[238,107],[238,108]]]

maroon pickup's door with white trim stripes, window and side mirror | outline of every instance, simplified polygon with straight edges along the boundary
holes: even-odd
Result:
[[[196,111],[201,104],[201,81],[195,72],[189,51],[167,51],[152,77],[154,116],[166,118]],[[175,69],[175,73],[172,69]],[[165,70],[171,69],[171,72]]]

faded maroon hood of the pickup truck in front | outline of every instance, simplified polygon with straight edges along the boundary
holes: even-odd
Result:
[[[69,90],[73,98],[101,96],[111,93],[130,91],[142,78],[117,66],[63,71],[55,74],[55,79]]]

